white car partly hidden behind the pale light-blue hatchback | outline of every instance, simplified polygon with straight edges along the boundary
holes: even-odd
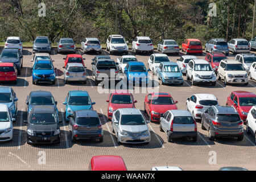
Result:
[[[165,53],[153,53],[148,59],[148,68],[153,72],[153,75],[158,72],[160,63],[171,62],[169,57]]]

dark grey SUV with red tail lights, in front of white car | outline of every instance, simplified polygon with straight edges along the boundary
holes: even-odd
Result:
[[[243,139],[243,121],[234,107],[210,106],[201,115],[201,127],[208,130],[209,140],[217,137]]]

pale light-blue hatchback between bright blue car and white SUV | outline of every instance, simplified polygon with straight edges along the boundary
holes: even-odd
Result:
[[[183,85],[183,76],[177,63],[162,62],[158,68],[159,84]]]

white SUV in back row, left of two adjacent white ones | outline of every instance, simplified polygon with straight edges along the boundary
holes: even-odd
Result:
[[[109,38],[106,41],[106,50],[109,51],[109,54],[113,53],[126,53],[128,54],[128,41],[125,41],[122,35],[109,35]]]

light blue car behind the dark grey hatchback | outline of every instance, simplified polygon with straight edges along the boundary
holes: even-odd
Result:
[[[69,121],[69,117],[76,110],[93,110],[95,102],[92,102],[88,92],[83,90],[72,90],[68,92],[63,104],[66,106],[65,119],[66,121]]]

